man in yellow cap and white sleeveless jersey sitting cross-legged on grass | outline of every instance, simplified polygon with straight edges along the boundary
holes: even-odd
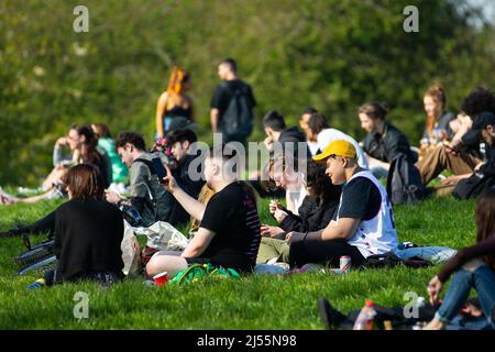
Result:
[[[397,231],[387,193],[373,174],[358,165],[354,146],[348,141],[333,141],[323,153],[314,156],[327,165],[326,174],[342,188],[339,209],[320,231],[289,232],[289,264],[339,265],[341,255],[349,255],[359,267],[366,257],[397,249]]]

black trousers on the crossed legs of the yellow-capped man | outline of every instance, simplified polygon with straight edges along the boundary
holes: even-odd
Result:
[[[331,241],[296,241],[290,244],[290,267],[317,263],[339,266],[340,256],[349,255],[353,267],[361,266],[365,258],[358,248],[350,245],[345,240]]]

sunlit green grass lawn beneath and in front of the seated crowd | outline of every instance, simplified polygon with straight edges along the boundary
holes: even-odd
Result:
[[[272,222],[266,211],[264,222]],[[0,230],[38,219],[59,202],[0,206]],[[474,202],[451,197],[414,207],[397,207],[400,241],[460,248],[474,243]],[[43,237],[34,237],[37,243]],[[299,274],[252,276],[182,286],[147,287],[131,279],[105,290],[98,285],[66,284],[28,292],[37,275],[15,276],[13,256],[20,239],[0,240],[0,329],[322,329],[316,301],[322,296],[348,312],[365,299],[404,306],[404,295],[426,296],[426,285],[439,267],[354,271],[345,276]],[[89,298],[88,319],[76,319],[77,292]]]

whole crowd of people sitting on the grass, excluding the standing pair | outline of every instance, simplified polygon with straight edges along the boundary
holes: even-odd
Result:
[[[387,111],[377,102],[358,110],[367,132],[362,143],[330,128],[314,108],[300,117],[302,133],[287,128],[279,112],[270,111],[263,119],[270,158],[253,180],[240,177],[234,146],[216,145],[206,153],[198,148],[196,124],[186,118],[169,119],[166,134],[161,131],[166,142],[157,140],[151,151],[138,132],[121,132],[113,141],[103,124],[73,125],[55,144],[54,169],[40,189],[43,194],[30,198],[2,194],[0,200],[10,205],[68,197],[29,228],[54,235],[59,260],[38,286],[120,280],[124,207],[135,209],[144,227],[156,221],[196,223],[184,251],[158,251],[151,256],[144,270],[147,278],[162,272],[174,277],[191,264],[207,263],[244,274],[256,263],[282,262],[290,268],[308,263],[338,266],[342,255],[359,267],[370,256],[398,248],[394,209],[380,178],[387,176],[397,155],[405,155],[425,184],[448,169],[453,176],[443,178],[438,189],[453,190],[465,180],[476,185],[465,198],[481,197],[475,211],[477,244],[460,250],[428,285],[433,304],[453,274],[428,328],[442,328],[452,319],[471,288],[491,319],[495,305],[495,96],[476,88],[464,99],[464,114],[458,117],[444,111],[446,95],[438,86],[426,92],[424,102],[427,128],[419,148],[386,121]],[[68,156],[62,153],[64,145]],[[165,177],[153,163],[156,158]],[[264,173],[268,179],[260,182]],[[273,197],[280,191],[286,207],[272,199],[268,209],[278,226],[262,223],[257,195]]]

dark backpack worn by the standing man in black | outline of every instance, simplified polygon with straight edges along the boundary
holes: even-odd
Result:
[[[227,82],[222,84],[227,86]],[[244,140],[253,131],[253,107],[249,86],[243,84],[233,91],[227,110],[220,120],[220,131],[229,140]]]

